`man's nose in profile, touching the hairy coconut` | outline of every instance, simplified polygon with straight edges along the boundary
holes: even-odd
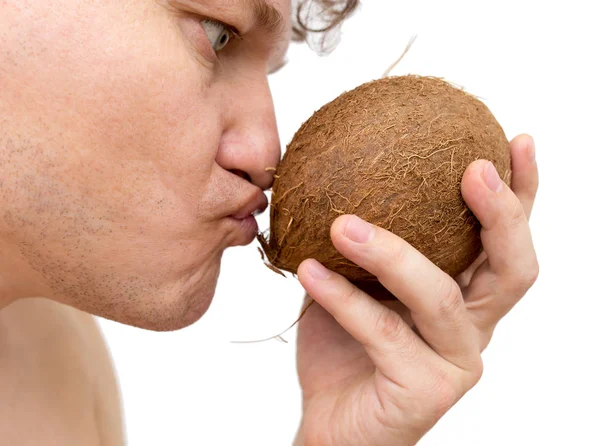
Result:
[[[231,108],[216,162],[263,190],[273,184],[281,157],[275,109],[266,77],[231,89]]]

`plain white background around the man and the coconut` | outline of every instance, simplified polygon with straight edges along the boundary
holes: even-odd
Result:
[[[379,77],[445,77],[483,97],[509,138],[535,137],[532,217],[541,275],[499,325],[486,371],[422,445],[600,445],[598,163],[600,31],[593,1],[369,1],[320,58],[293,46],[271,79],[282,144],[324,103]],[[268,226],[266,215],[259,221]],[[256,244],[226,252],[213,306],[152,333],[101,321],[123,391],[128,444],[287,445],[300,420],[295,332],[302,289]],[[343,445],[341,445],[343,446]]]

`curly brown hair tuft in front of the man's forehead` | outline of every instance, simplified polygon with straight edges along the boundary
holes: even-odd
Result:
[[[339,26],[358,3],[359,0],[295,0],[292,39],[307,42],[320,53],[331,51],[339,38]]]

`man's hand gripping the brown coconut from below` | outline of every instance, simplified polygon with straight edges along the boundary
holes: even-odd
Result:
[[[336,249],[397,300],[379,302],[315,260],[300,265],[316,304],[298,329],[304,416],[296,444],[414,445],[478,382],[494,327],[538,274],[528,224],[538,184],[531,138],[515,138],[511,155],[512,190],[487,161],[465,172],[462,194],[481,222],[484,253],[456,279],[349,215],[332,225]]]

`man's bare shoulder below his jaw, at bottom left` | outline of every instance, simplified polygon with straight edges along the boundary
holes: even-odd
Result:
[[[1,310],[0,395],[9,444],[124,444],[112,361],[86,313],[46,299]]]

